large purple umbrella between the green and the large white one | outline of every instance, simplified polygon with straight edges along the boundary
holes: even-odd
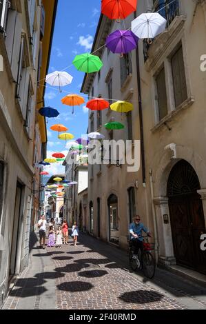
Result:
[[[113,53],[127,54],[136,48],[138,37],[131,30],[116,30],[107,39],[106,45]]]

